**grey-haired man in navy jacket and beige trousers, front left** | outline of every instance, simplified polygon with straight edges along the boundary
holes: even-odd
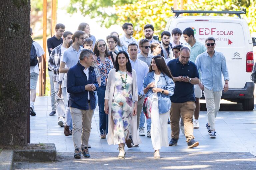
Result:
[[[91,132],[93,110],[96,107],[94,91],[99,87],[94,68],[94,53],[83,49],[79,61],[67,73],[68,106],[73,120],[74,158],[90,157],[88,141]]]

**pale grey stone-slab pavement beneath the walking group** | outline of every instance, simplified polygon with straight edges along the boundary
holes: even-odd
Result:
[[[51,112],[50,97],[37,97],[35,102],[37,115],[31,116],[30,143],[55,143],[57,152],[74,152],[72,136],[65,136],[63,128],[57,124],[58,116],[49,116]],[[200,112],[199,129],[194,129],[195,139],[199,141],[199,146],[194,149],[187,149],[185,136],[180,133],[177,146],[163,147],[160,153],[173,152],[173,154],[189,153],[209,153],[209,152],[250,152],[256,155],[256,112],[244,111],[221,111],[216,119],[217,138],[210,139],[205,124],[207,122],[206,112]],[[92,120],[92,129],[89,143],[92,148],[90,152],[118,152],[117,145],[108,145],[106,139],[100,139],[99,134],[99,112],[94,112]],[[168,125],[168,135],[170,139],[171,128]],[[153,147],[151,138],[141,136],[142,144],[139,147],[125,148],[127,154],[139,154],[139,152],[150,152],[152,157]],[[135,153],[137,152],[137,153]],[[171,153],[169,153],[171,154]],[[94,156],[92,156],[94,157]],[[115,157],[115,156],[114,156]],[[106,158],[107,159],[107,158]],[[151,158],[150,158],[151,159]],[[150,160],[149,159],[149,160]],[[168,158],[169,159],[169,158]],[[196,160],[196,159],[194,159]],[[195,167],[196,168],[196,167]],[[168,169],[168,168],[167,168]]]

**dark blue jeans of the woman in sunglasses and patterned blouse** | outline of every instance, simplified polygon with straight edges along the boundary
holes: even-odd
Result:
[[[104,112],[105,91],[106,91],[106,86],[100,86],[97,90],[99,116],[100,116],[100,134],[104,134],[105,130],[106,130],[106,133],[108,133],[108,115]]]

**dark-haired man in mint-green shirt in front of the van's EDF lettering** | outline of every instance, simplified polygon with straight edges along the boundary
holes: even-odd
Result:
[[[196,57],[199,54],[205,52],[206,48],[203,43],[195,39],[195,33],[192,28],[186,28],[183,31],[183,37],[184,37],[184,40],[186,41],[185,45],[188,46],[191,50],[190,60],[195,62]],[[198,118],[199,118],[199,112],[200,112],[200,97],[202,97],[202,90],[198,85],[195,85],[194,88],[195,88],[195,97],[196,97],[196,109],[194,113],[195,119],[193,121],[193,124],[194,124],[194,128],[199,128]]]

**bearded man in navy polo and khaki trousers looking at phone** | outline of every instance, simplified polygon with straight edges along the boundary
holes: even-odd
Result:
[[[194,84],[198,84],[199,73],[195,63],[189,60],[190,49],[183,46],[179,52],[179,58],[170,60],[167,64],[171,70],[173,80],[175,82],[174,95],[171,96],[171,141],[169,146],[177,145],[179,139],[179,120],[180,116],[184,122],[185,136],[188,143],[188,148],[193,148],[199,145],[199,142],[194,140],[193,135],[193,115],[196,108]]]

